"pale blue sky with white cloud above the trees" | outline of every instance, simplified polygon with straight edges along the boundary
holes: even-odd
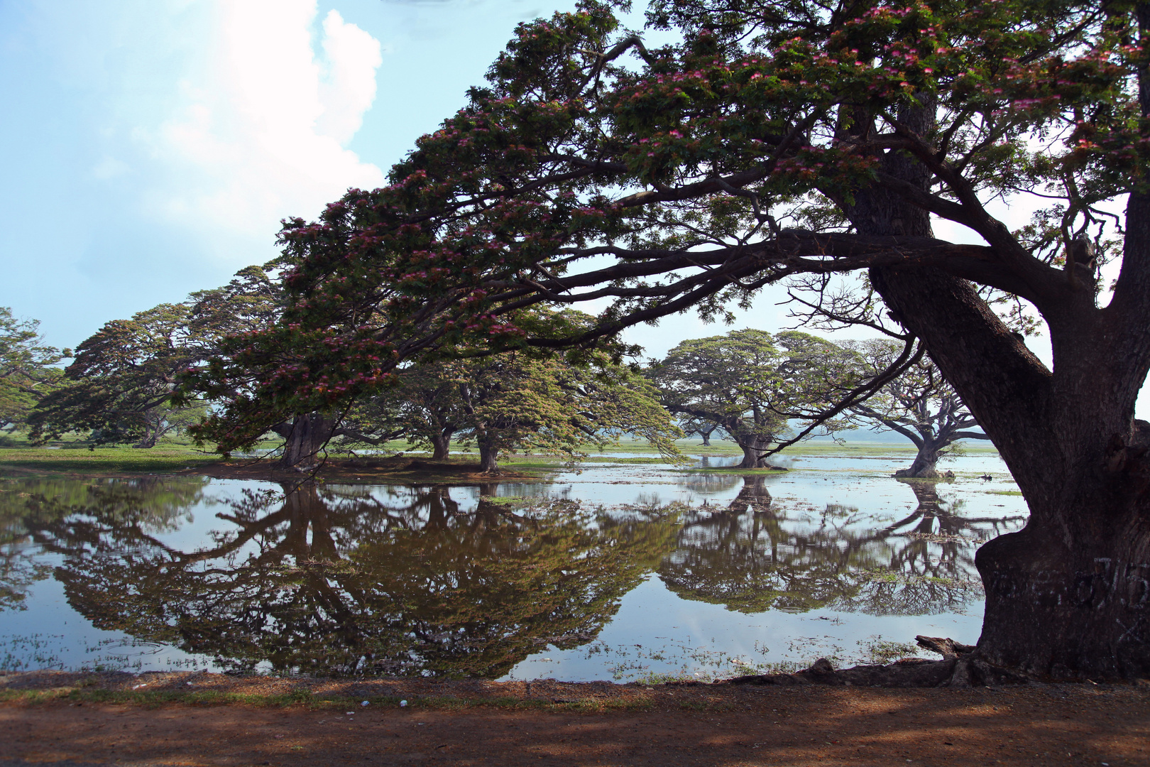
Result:
[[[282,218],[379,185],[516,23],[573,6],[0,0],[0,306],[75,346],[225,283],[276,254]],[[766,291],[733,327],[789,327],[783,298]],[[687,314],[628,340],[659,356],[726,330]]]

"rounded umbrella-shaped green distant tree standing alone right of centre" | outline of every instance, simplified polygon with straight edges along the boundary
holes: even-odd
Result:
[[[721,425],[743,448],[739,467],[751,469],[767,466],[764,455],[790,434],[788,420],[820,413],[851,389],[858,360],[807,333],[749,329],[684,340],[647,374],[668,411]]]

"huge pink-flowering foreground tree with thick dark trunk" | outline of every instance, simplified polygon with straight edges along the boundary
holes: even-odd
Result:
[[[647,48],[592,0],[521,25],[389,186],[289,221],[290,305],[223,350],[215,375],[245,393],[221,431],[243,444],[465,337],[589,344],[813,276],[811,304],[908,337],[898,365],[921,340],[1029,505],[979,551],[960,676],[1150,674],[1150,5],[653,0],[649,18],[677,41]],[[1025,227],[988,207],[1032,191]],[[1052,367],[1003,296],[1045,322]],[[614,302],[574,338],[505,321],[590,299]]]

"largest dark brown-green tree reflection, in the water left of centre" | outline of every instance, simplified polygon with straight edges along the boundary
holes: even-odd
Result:
[[[99,497],[25,524],[66,554],[56,577],[98,628],[235,669],[328,675],[500,676],[549,644],[593,639],[674,545],[664,511],[488,491],[466,512],[446,486],[245,491],[217,514],[229,527],[190,551]]]

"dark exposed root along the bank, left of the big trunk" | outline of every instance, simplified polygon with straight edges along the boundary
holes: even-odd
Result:
[[[826,684],[831,687],[880,688],[972,688],[992,684],[1026,684],[1032,680],[991,666],[979,657],[977,647],[950,638],[915,637],[919,646],[937,652],[942,660],[904,658],[888,666],[854,666],[835,669],[820,658],[810,668],[793,674],[749,674],[719,684]]]

